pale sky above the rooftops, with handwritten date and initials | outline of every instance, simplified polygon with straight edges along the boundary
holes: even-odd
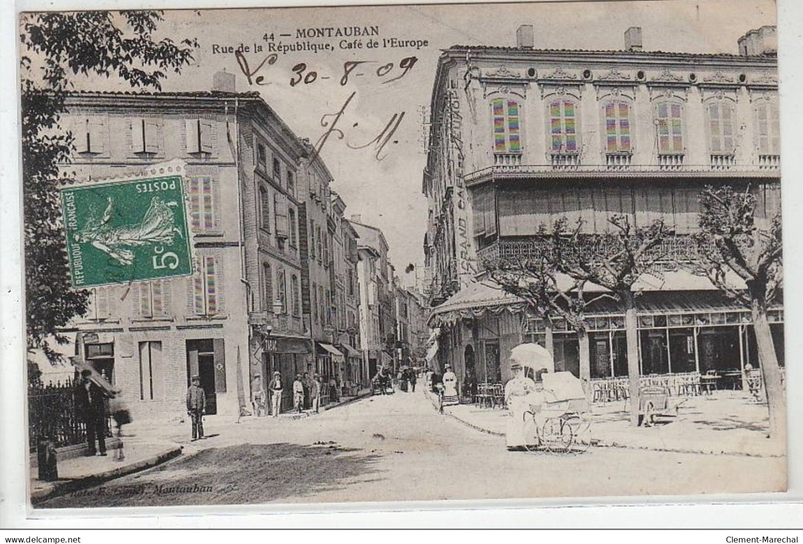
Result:
[[[202,91],[211,87],[215,71],[237,74],[237,90],[259,90],[264,99],[300,137],[314,143],[324,132],[320,118],[337,112],[345,99],[357,91],[338,126],[346,132],[344,140],[328,140],[322,153],[335,177],[332,188],[343,197],[347,216],[360,214],[362,221],[376,225],[385,233],[397,273],[407,263],[422,258],[422,239],[426,229],[426,199],[421,193],[422,152],[419,108],[430,104],[435,67],[441,49],[455,44],[515,46],[520,24],[535,26],[535,46],[548,49],[622,49],[623,34],[629,26],[641,26],[646,51],[738,52],[737,39],[745,31],[775,24],[775,2],[744,0],[687,2],[551,2],[453,6],[359,6],[334,8],[239,9],[168,11],[161,26],[173,39],[194,37],[198,49],[194,66],[180,76],[170,75],[165,91]],[[265,65],[258,75],[264,87],[249,86],[233,54],[213,54],[212,46],[253,47],[265,45],[263,35],[295,43],[296,28],[311,26],[379,26],[380,39],[428,40],[429,47],[418,51],[404,48],[343,51],[339,39],[316,39],[332,43],[335,51],[312,54],[291,52],[279,55],[272,66]],[[280,38],[279,34],[293,35]],[[364,40],[365,41],[365,40]],[[402,79],[381,83],[401,73],[398,63],[415,55],[418,62]],[[266,53],[247,53],[251,70]],[[343,63],[348,60],[373,61],[358,67],[349,83],[340,86]],[[291,68],[307,63],[316,71],[312,83],[291,87]],[[393,70],[385,78],[374,71],[385,63]],[[328,76],[329,79],[324,79]],[[78,82],[87,89],[128,90],[124,83]],[[405,112],[384,160],[374,158],[373,145],[350,149],[344,144],[367,144],[389,122],[394,113]],[[357,123],[357,126],[354,126]]]

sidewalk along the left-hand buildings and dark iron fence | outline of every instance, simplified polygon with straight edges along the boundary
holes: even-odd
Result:
[[[336,403],[329,403],[320,408],[320,412],[331,410],[345,404],[351,404],[371,395],[371,390],[360,392],[357,396],[341,398]],[[35,467],[31,468],[31,503],[36,504],[49,497],[73,493],[86,489],[104,481],[119,478],[127,474],[160,465],[182,453],[194,455],[203,449],[219,447],[229,444],[232,440],[243,441],[247,439],[248,428],[251,424],[286,424],[315,413],[305,410],[301,413],[284,412],[277,418],[269,416],[255,417],[243,416],[239,423],[243,424],[241,432],[231,432],[231,425],[237,421],[236,417],[212,416],[204,420],[204,431],[210,438],[226,436],[225,440],[190,440],[190,426],[183,417],[174,422],[153,424],[151,421],[137,420],[124,427],[122,437],[125,458],[123,461],[115,460],[116,450],[109,449],[107,457],[75,457],[59,459],[59,480],[39,481]]]

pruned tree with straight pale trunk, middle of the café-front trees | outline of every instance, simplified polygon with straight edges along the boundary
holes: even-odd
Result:
[[[625,315],[630,423],[635,426],[638,425],[641,372],[634,285],[666,258],[660,246],[668,230],[662,219],[636,227],[626,215],[615,215],[609,218],[609,223],[613,227],[609,232],[582,233],[582,221],[573,226],[565,218],[556,221],[552,230],[552,262],[559,272],[577,282],[604,287],[618,301]]]

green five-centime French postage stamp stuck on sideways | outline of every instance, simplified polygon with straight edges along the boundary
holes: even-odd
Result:
[[[193,273],[180,175],[62,189],[72,286]]]

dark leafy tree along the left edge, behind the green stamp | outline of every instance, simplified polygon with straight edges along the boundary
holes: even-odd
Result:
[[[194,39],[157,39],[159,11],[22,14],[22,194],[26,272],[26,337],[50,359],[45,339],[88,309],[88,291],[71,290],[59,185],[69,174],[73,138],[59,125],[75,79],[118,78],[161,89],[167,72],[193,59]]]

